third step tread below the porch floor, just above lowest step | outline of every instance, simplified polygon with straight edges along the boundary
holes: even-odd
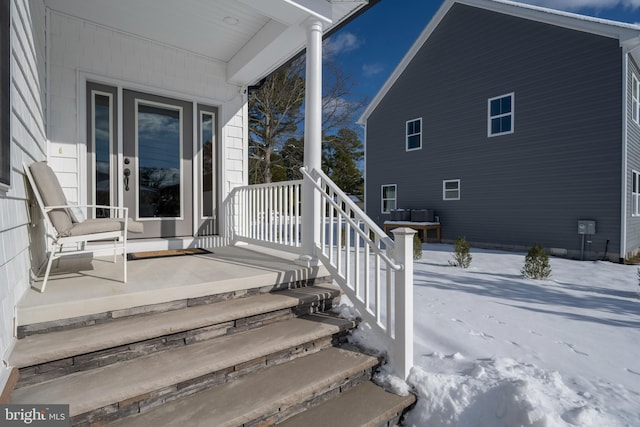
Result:
[[[165,404],[140,415],[117,421],[119,427],[147,426],[269,426],[320,402],[336,399],[352,388],[365,387],[369,395],[387,393],[370,382],[371,369],[378,360],[361,353],[329,348],[313,355],[245,376],[233,383]],[[397,399],[394,399],[397,400]],[[379,403],[380,399],[376,401]],[[386,405],[383,405],[386,406]],[[350,409],[349,409],[350,410]],[[348,411],[349,411],[348,410]],[[333,413],[313,425],[340,421],[343,413]],[[318,424],[318,422],[320,424]],[[305,424],[290,424],[302,426]],[[339,423],[341,427],[360,424]]]

